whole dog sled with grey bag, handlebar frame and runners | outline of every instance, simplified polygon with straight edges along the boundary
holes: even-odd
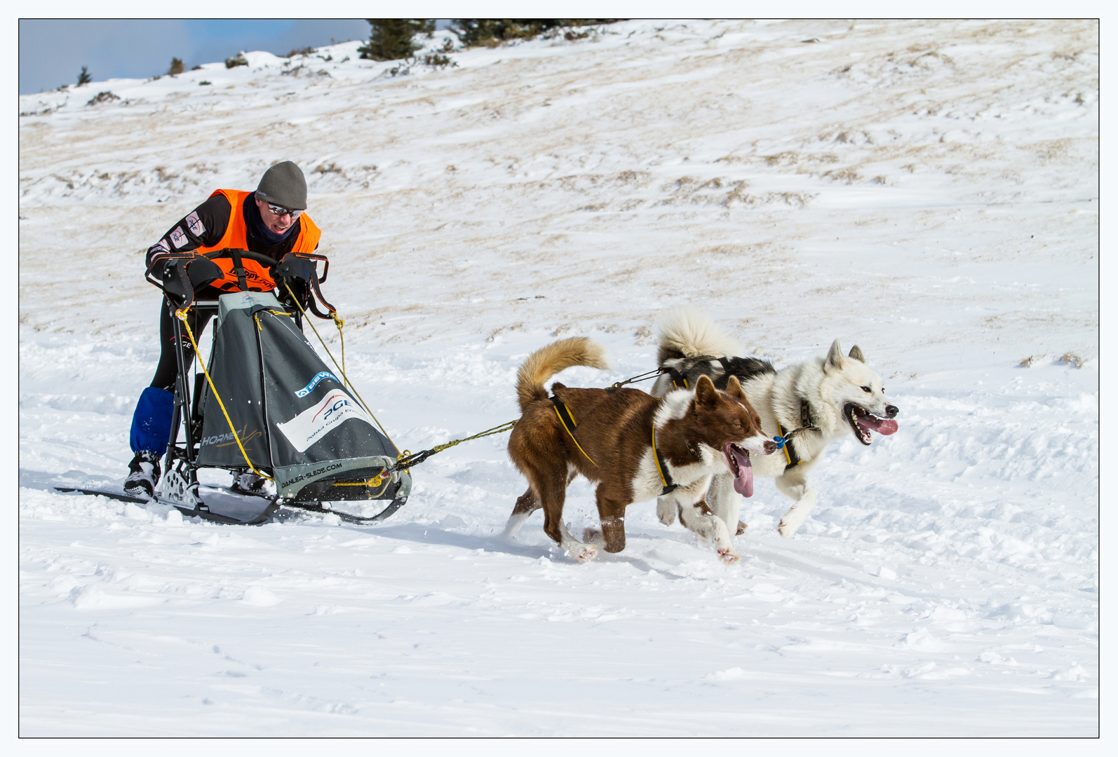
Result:
[[[265,291],[196,300],[196,288],[220,278],[217,258],[231,259],[238,276],[243,259],[265,265],[284,293],[283,301]],[[319,261],[325,263],[321,279]],[[323,256],[293,252],[277,262],[246,250],[179,257],[158,280],[149,271],[149,280],[160,286],[164,306],[176,316],[178,358],[171,432],[157,501],[183,515],[244,525],[266,523],[281,508],[376,523],[407,501],[411,476],[396,464],[399,450],[378,428],[344,371],[328,367],[303,335],[305,308],[319,318],[335,317],[319,289],[328,271]],[[241,287],[247,289],[244,281]],[[193,345],[198,352],[187,319],[190,310],[216,316],[208,365],[195,375],[189,375],[186,364],[186,347]],[[272,481],[274,494],[199,483],[198,472],[207,468],[227,470],[234,477],[263,477]],[[114,496],[98,489],[64,490]],[[369,517],[337,509],[370,500],[388,505]]]

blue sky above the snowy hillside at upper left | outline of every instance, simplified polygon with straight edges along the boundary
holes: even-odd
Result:
[[[95,80],[165,74],[171,58],[187,68],[240,50],[285,55],[294,48],[368,39],[364,19],[21,19],[20,94],[75,84],[82,66]]]

